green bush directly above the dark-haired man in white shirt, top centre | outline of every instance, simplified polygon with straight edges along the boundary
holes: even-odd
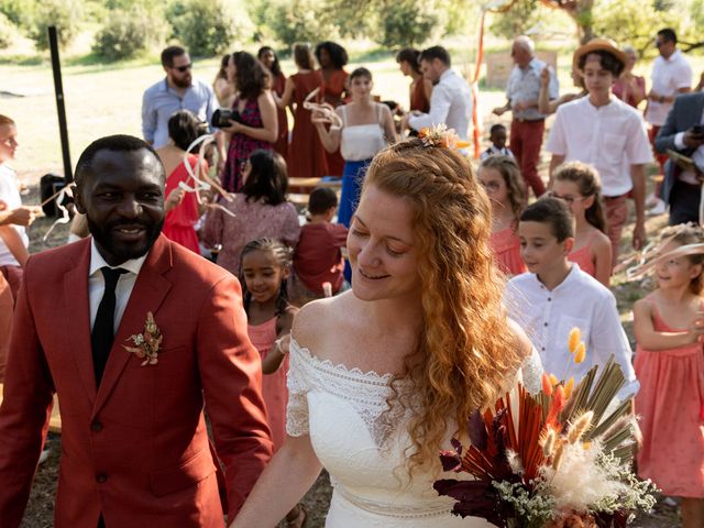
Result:
[[[380,13],[380,28],[374,40],[388,47],[421,44],[438,26],[437,10],[429,2],[398,0]]]

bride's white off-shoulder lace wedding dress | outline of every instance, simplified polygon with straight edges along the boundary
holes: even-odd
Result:
[[[432,475],[415,473],[409,480],[404,466],[404,450],[410,446],[405,420],[384,413],[391,374],[333,365],[293,339],[289,361],[286,430],[293,437],[310,435],[320,463],[330,473],[334,491],[327,528],[492,526],[481,518],[451,515],[454,501],[438,495]],[[529,391],[538,389],[541,373],[534,351],[522,367]],[[449,438],[446,449],[450,449]],[[463,475],[441,473],[438,479]]]

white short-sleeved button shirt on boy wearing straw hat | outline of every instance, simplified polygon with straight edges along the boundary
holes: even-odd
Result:
[[[652,150],[638,111],[612,97],[595,107],[588,96],[558,108],[548,152],[565,162],[588,163],[602,177],[604,196],[615,197],[632,188],[630,166],[650,163]]]

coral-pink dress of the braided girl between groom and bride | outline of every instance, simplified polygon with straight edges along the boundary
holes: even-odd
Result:
[[[250,341],[260,351],[262,360],[266,358],[276,341],[276,320],[274,317],[262,324],[248,324],[246,332]],[[288,356],[284,358],[280,366],[273,374],[262,375],[262,395],[266,404],[268,427],[274,438],[274,449],[284,443],[286,438],[286,405],[288,404],[288,389],[286,388],[286,374],[288,373]]]

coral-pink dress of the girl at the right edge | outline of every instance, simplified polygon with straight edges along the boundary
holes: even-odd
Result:
[[[676,332],[660,318],[656,331]],[[704,497],[704,350],[701,343],[650,352],[638,345],[635,361],[640,391],[642,449],[638,476],[650,479],[664,495]]]

